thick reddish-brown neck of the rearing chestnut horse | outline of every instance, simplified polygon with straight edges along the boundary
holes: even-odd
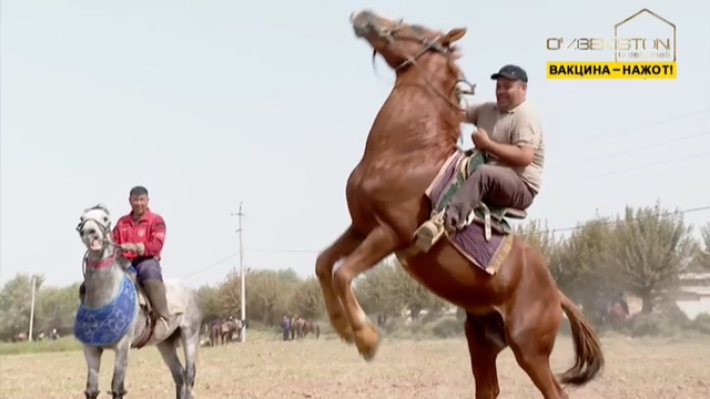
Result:
[[[369,132],[366,157],[420,153],[444,162],[456,151],[464,111],[454,89],[463,76],[453,57],[432,53],[397,73]]]

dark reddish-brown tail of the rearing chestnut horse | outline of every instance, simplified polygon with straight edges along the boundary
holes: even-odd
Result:
[[[562,310],[569,319],[575,342],[575,366],[560,376],[562,383],[582,386],[589,382],[604,368],[605,359],[601,351],[601,342],[594,328],[577,309],[575,304],[560,291]]]

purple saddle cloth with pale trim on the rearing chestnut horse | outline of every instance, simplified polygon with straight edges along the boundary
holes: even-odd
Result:
[[[485,154],[475,150],[458,150],[447,160],[426,191],[433,206],[432,219],[439,218],[440,222],[454,194],[476,167],[485,163]],[[525,211],[481,204],[474,208],[462,231],[447,234],[446,237],[468,260],[493,275],[513,245],[513,227],[506,217],[526,216]]]

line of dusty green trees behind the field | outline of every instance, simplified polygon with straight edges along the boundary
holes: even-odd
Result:
[[[710,224],[692,234],[679,212],[659,205],[633,208],[615,217],[595,217],[560,235],[539,221],[519,223],[516,234],[535,246],[547,259],[550,273],[572,300],[585,310],[594,308],[599,295],[621,290],[642,300],[642,313],[651,314],[679,286],[679,277],[689,272],[710,272]],[[64,287],[47,286],[37,278],[34,330],[71,335],[79,305],[79,282]],[[0,339],[11,339],[28,330],[31,278],[18,274],[0,290]],[[323,319],[325,306],[316,277],[300,277],[293,269],[248,272],[246,310],[250,327],[275,328],[283,315]],[[355,295],[365,311],[378,317],[407,315],[418,320],[435,317],[450,308],[412,279],[395,258],[359,276]],[[199,289],[205,323],[240,317],[239,274],[227,274],[214,285]]]

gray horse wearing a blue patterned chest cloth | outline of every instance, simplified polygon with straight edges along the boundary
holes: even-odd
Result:
[[[202,309],[197,293],[178,284],[165,284],[170,310],[170,331],[156,341],[151,332],[154,318],[142,287],[135,283],[135,270],[121,255],[111,237],[111,219],[104,205],[84,211],[77,226],[88,252],[84,258],[84,301],[74,320],[74,336],[84,344],[88,399],[99,396],[99,367],[104,349],[115,351],[111,395],[123,398],[129,350],[155,345],[175,381],[178,399],[192,398],[195,382],[195,358],[200,346]],[[185,367],[178,357],[184,348]]]

